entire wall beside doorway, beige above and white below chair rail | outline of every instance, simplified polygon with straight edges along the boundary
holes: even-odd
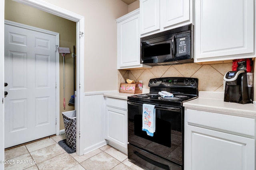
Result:
[[[44,0],[84,16],[84,98],[80,143],[84,153],[106,145],[103,93],[117,90],[116,18],[128,13],[121,0]],[[82,57],[82,56],[81,56]],[[78,132],[77,132],[78,133]]]

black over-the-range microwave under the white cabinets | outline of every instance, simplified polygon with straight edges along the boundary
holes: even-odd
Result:
[[[140,63],[158,66],[193,63],[194,25],[140,38]]]

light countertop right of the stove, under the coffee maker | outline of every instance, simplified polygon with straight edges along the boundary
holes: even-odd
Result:
[[[222,92],[199,92],[199,98],[184,102],[183,106],[190,109],[212,111],[242,117],[256,117],[255,104],[237,104],[224,102]]]

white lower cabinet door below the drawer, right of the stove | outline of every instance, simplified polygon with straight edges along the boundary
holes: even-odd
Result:
[[[255,141],[185,126],[184,170],[255,170]]]

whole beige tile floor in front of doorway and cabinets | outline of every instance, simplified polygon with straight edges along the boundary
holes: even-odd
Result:
[[[142,170],[127,155],[105,145],[83,156],[68,154],[58,145],[65,135],[58,135],[5,150],[5,170]]]

